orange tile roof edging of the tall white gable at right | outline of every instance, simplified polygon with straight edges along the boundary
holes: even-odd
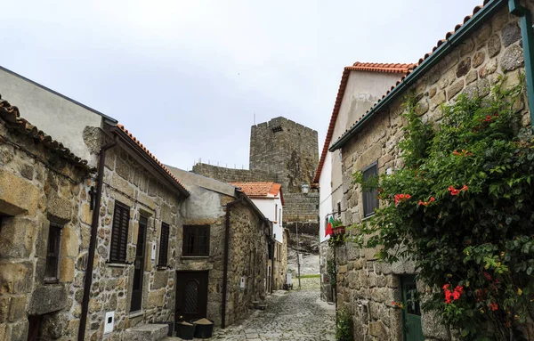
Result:
[[[330,117],[330,123],[328,124],[327,137],[325,139],[325,144],[323,150],[320,154],[319,165],[315,171],[315,177],[313,178],[312,183],[319,183],[320,172],[322,167],[325,164],[325,158],[327,157],[328,147],[330,142],[332,142],[332,134],[334,134],[334,127],[336,126],[337,115],[339,114],[339,109],[341,108],[341,102],[343,101],[344,91],[349,80],[349,75],[351,71],[370,71],[370,72],[386,72],[386,73],[401,73],[407,74],[410,69],[416,67],[417,64],[384,64],[376,62],[360,62],[356,61],[352,66],[347,66],[343,70],[343,75],[341,76],[341,82],[339,84],[339,89],[337,90],[336,103],[334,104],[334,110],[332,110],[332,116]]]

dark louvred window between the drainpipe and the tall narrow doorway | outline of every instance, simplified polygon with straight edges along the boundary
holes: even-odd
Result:
[[[113,227],[111,231],[110,263],[126,263],[128,248],[128,224],[130,223],[130,207],[115,201]]]

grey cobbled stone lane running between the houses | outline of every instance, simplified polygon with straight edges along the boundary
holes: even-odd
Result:
[[[320,301],[319,278],[302,279],[301,290],[277,291],[267,298],[264,311],[252,311],[247,320],[214,330],[212,340],[334,341],[334,305]],[[295,285],[296,284],[296,285]],[[167,340],[180,338],[167,338]]]

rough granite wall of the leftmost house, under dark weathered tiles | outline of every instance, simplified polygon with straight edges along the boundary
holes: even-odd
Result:
[[[90,175],[0,122],[0,340],[26,340],[28,318],[40,318],[42,339],[76,339],[75,266],[89,245],[78,216]],[[61,226],[59,276],[45,282],[51,223]]]

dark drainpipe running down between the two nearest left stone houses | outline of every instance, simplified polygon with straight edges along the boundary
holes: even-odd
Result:
[[[80,317],[80,326],[78,329],[78,341],[84,341],[85,338],[85,325],[87,321],[87,311],[89,309],[89,295],[91,294],[91,284],[93,284],[94,250],[96,248],[96,235],[98,232],[106,150],[109,150],[109,148],[112,148],[115,145],[117,145],[117,138],[114,142],[109,142],[103,146],[100,151],[98,175],[96,175],[96,196],[94,198],[93,221],[91,223],[91,241],[89,242],[89,256],[87,258],[87,268],[85,269],[84,298],[82,300],[82,315]]]

